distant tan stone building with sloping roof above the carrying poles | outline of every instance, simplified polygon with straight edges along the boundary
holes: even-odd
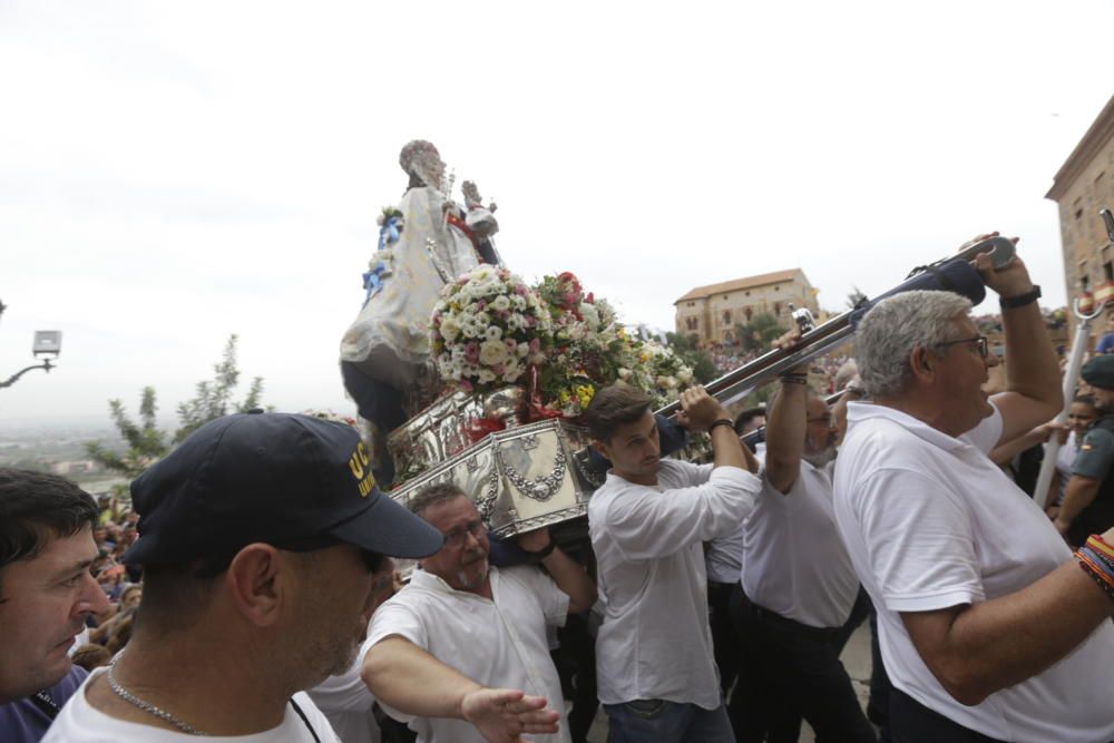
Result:
[[[819,313],[818,292],[800,268],[697,286],[673,303],[677,332],[696,334],[703,344],[731,343],[736,324],[763,313],[788,327],[790,304]]]

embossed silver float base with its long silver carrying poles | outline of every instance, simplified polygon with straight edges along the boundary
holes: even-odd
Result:
[[[1001,268],[1013,260],[1014,245],[1008,238],[993,237],[919,266],[895,289],[821,325],[814,324],[807,310],[797,310],[794,319],[804,331],[798,345],[770,351],[705,389],[725,404],[745,397],[778,374],[847,343],[859,320],[887,296],[911,290],[940,290],[962,294],[978,304],[986,287],[971,261],[984,253],[990,255],[995,268]],[[509,413],[519,403],[512,391],[486,397],[458,392],[407,421],[391,433],[388,448],[398,465],[418,461],[421,467],[417,469],[423,471],[393,489],[391,497],[405,505],[422,488],[450,481],[470,495],[496,537],[557,525],[567,526],[569,538],[583,536],[584,520],[579,517],[587,512],[588,498],[603,482],[603,472],[594,466],[588,448],[587,431],[563,418],[512,424]],[[668,416],[678,408],[680,401],[656,412]],[[476,443],[460,440],[469,418],[492,416],[505,417],[508,428]]]

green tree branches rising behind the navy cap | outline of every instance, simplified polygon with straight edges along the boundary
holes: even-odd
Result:
[[[109,416],[120,432],[120,438],[127,444],[124,453],[106,449],[96,441],[89,441],[85,449],[89,458],[113,472],[119,472],[133,480],[148,467],[165,457],[174,444],[180,443],[187,436],[214,418],[229,412],[244,412],[260,405],[263,395],[263,378],[256,377],[247,390],[243,402],[232,400],[233,392],[240,382],[240,369],[236,364],[236,336],[231,335],[225,344],[224,358],[214,364],[215,375],[212,380],[197,383],[197,392],[193,399],[178,405],[178,422],[180,428],[168,441],[169,433],[158,428],[155,414],[158,411],[155,388],[145,387],[139,402],[138,422],[128,414],[119,400],[108,401]],[[126,495],[127,486],[119,486],[116,495]]]

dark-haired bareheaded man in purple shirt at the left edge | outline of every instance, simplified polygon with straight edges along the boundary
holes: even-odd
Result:
[[[0,739],[47,732],[86,672],[68,651],[85,618],[108,608],[89,574],[97,504],[53,475],[0,468]]]

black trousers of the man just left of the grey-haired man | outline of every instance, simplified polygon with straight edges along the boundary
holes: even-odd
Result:
[[[752,604],[736,586],[731,616],[741,646],[740,718],[732,720],[742,743],[795,743],[788,729],[797,715],[815,731],[818,743],[874,743],[851,678],[839,659],[839,628],[820,629]]]

